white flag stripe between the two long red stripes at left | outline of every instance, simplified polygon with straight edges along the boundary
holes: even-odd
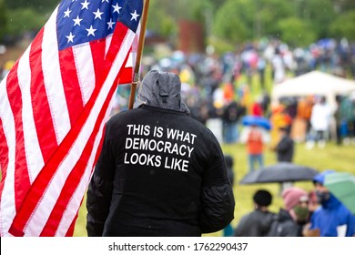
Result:
[[[42,157],[41,148],[35,132],[35,118],[31,101],[31,71],[29,64],[30,47],[25,50],[24,55],[18,61],[17,74],[18,84],[21,88],[23,109],[22,121],[25,138],[25,158],[28,168],[30,183],[35,180],[38,172],[43,168],[45,162]]]

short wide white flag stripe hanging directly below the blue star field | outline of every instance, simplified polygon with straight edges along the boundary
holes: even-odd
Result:
[[[73,54],[76,61],[77,78],[85,106],[94,91],[96,79],[90,44],[86,43],[74,46]]]

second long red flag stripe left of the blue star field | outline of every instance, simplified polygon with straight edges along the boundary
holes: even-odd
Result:
[[[7,76],[7,95],[15,120],[15,208],[20,208],[21,202],[30,187],[28,168],[25,158],[25,135],[22,122],[22,93],[17,78],[18,61]]]

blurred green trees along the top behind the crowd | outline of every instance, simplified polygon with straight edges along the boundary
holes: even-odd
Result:
[[[0,43],[36,33],[59,0],[0,0]],[[174,42],[180,19],[204,25],[208,42],[227,46],[263,36],[290,46],[308,46],[324,37],[355,40],[353,0],[152,0],[147,29]]]

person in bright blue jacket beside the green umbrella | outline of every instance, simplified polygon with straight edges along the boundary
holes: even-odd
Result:
[[[313,183],[320,207],[310,218],[305,236],[312,236],[312,231],[320,230],[320,237],[351,237],[355,234],[355,216],[324,186],[327,176],[335,174],[326,170],[315,176]]]

